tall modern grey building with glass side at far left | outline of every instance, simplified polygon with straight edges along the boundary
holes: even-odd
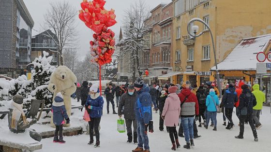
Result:
[[[0,74],[16,78],[30,63],[34,21],[23,0],[1,0]]]

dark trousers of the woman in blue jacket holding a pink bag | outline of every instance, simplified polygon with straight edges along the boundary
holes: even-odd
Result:
[[[93,140],[93,128],[94,128],[96,141],[100,141],[100,132],[99,132],[100,122],[101,122],[101,118],[90,118],[90,121],[89,121],[90,140]]]

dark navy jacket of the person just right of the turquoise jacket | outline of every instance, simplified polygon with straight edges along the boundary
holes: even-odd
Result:
[[[228,88],[222,97],[222,102],[220,106],[231,109],[234,107],[234,104],[237,101],[238,101],[238,97],[237,97],[237,93],[235,92],[235,88]]]

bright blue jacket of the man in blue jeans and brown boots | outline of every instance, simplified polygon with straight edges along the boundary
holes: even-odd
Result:
[[[135,119],[144,122],[144,124],[149,124],[152,120],[151,95],[149,92],[150,88],[143,84],[143,87],[137,92],[138,96],[135,102]]]

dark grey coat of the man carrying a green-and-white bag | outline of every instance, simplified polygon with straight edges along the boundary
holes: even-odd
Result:
[[[122,107],[124,107],[124,119],[134,120],[135,119],[135,102],[137,94],[136,92],[131,96],[126,92],[120,97],[120,103],[118,108],[118,115],[121,115]]]

